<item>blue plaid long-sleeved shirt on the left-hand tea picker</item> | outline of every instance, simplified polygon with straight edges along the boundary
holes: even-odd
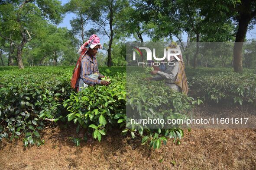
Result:
[[[80,78],[87,85],[91,85],[91,86],[100,85],[101,82],[102,82],[101,80],[92,79],[92,78],[88,77],[90,74],[95,73],[95,72],[97,72],[100,75],[99,78],[104,77],[99,72],[96,57],[93,57],[93,60],[91,60],[91,57],[89,57],[89,55],[85,54],[84,57],[81,60]]]

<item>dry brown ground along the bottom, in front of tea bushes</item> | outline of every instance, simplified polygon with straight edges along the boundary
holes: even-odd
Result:
[[[3,141],[0,169],[256,169],[256,129],[185,130],[181,145],[169,140],[157,150],[120,132],[80,147],[70,136],[75,127],[56,126],[43,130],[40,147]]]

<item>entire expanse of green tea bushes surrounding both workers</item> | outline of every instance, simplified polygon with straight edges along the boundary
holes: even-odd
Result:
[[[145,82],[143,78],[149,75],[144,73],[140,73],[140,78],[126,77],[125,67],[99,69],[110,76],[112,83],[76,93],[70,88],[73,66],[27,67],[23,70],[0,67],[0,139],[12,141],[22,136],[25,146],[42,145],[40,130],[44,128],[45,120],[62,120],[77,124],[77,132],[80,127],[87,128],[99,141],[111,128],[118,128],[123,135],[140,136],[142,144],[149,142],[153,148],[159,148],[162,142],[166,144],[167,138],[180,143],[183,130],[179,126],[150,129],[129,125],[132,128],[126,129],[130,119],[126,117],[126,109],[142,117],[184,118],[195,104],[202,102],[200,99],[194,100],[161,87],[159,83],[162,82]],[[243,74],[233,73],[230,69],[186,71],[189,86],[198,91],[197,96],[216,102],[230,99],[233,103],[255,103],[255,70],[246,70]],[[126,91],[127,85],[133,90]],[[166,112],[159,107],[164,105]],[[163,114],[159,114],[161,112]],[[80,140],[74,141],[79,144]]]

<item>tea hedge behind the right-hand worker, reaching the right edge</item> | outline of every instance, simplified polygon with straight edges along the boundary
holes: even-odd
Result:
[[[201,97],[216,103],[256,104],[255,70],[243,74],[231,69],[197,69],[194,76],[188,76],[189,86],[195,88]],[[211,71],[206,74],[207,71]]]

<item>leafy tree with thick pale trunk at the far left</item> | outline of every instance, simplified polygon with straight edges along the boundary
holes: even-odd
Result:
[[[0,36],[17,49],[19,69],[23,69],[22,50],[32,36],[43,34],[46,20],[58,24],[62,6],[58,0],[7,0],[0,6]]]

